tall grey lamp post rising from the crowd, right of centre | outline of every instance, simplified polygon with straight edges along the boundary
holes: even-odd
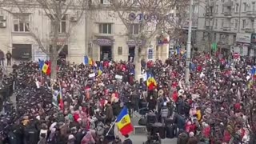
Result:
[[[192,13],[193,13],[193,0],[190,0],[190,22],[189,31],[186,42],[186,72],[185,72],[185,82],[186,85],[190,85],[190,52],[191,52],[191,32],[192,32]]]

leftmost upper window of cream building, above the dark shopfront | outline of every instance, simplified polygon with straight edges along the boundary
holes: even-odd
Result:
[[[14,15],[14,32],[28,32],[30,26],[30,16],[25,14]]]

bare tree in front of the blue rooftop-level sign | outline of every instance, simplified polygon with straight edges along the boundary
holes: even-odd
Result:
[[[136,45],[136,79],[141,74],[140,62],[142,58],[146,59],[150,42],[161,34],[174,34],[177,27],[181,29],[180,18],[184,16],[187,4],[187,0],[110,0],[110,5],[126,26],[128,38]],[[174,10],[178,13],[177,16],[174,16]],[[130,32],[130,26],[134,23],[139,24],[138,34]]]

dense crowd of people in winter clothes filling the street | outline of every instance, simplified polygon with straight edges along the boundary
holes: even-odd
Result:
[[[0,143],[130,144],[129,135],[112,126],[124,106],[130,117],[136,111],[146,115],[138,123],[146,126],[149,144],[162,138],[177,138],[178,144],[256,143],[251,58],[196,54],[190,85],[185,84],[182,57],[142,62],[142,71],[156,81],[150,89],[145,81],[134,80],[132,62],[58,64],[57,79],[42,74],[38,62],[15,66],[10,79],[16,104],[4,106]],[[56,102],[53,95],[58,95]]]

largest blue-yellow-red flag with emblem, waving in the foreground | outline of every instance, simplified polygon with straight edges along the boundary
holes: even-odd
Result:
[[[130,116],[126,106],[118,115],[116,126],[118,126],[118,130],[122,135],[130,134],[130,132],[134,131],[134,126],[130,122]]]

